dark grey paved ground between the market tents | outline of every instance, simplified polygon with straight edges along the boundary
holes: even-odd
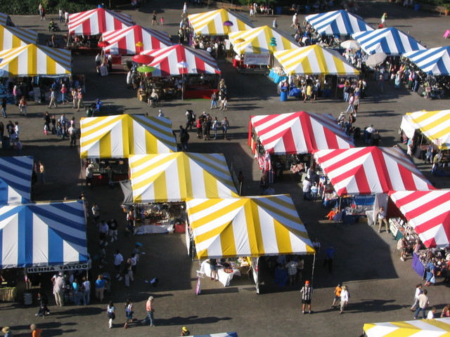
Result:
[[[165,29],[170,34],[176,34],[181,14],[181,1],[153,1],[139,11],[126,11],[133,15],[134,20],[141,25],[150,24],[150,13],[157,9],[159,15],[164,15],[166,25],[155,26]],[[193,8],[192,12],[206,11],[206,8]],[[375,25],[381,14],[387,11],[388,25],[394,25],[409,31],[413,37],[420,39],[428,46],[448,44],[442,39],[442,34],[450,25],[450,18],[432,15],[430,13],[404,10],[400,6],[385,2],[361,2],[359,14]],[[51,18],[51,15],[48,16]],[[258,17],[256,25],[271,24],[273,17]],[[14,17],[13,21],[30,29],[46,33],[48,22],[41,22],[37,16]],[[278,25],[288,31],[290,15],[278,16]],[[438,29],[437,29],[438,28]],[[441,32],[442,31],[442,32]],[[43,39],[45,39],[43,37]],[[73,69],[86,75],[86,100],[101,98],[110,110],[125,113],[157,114],[152,109],[136,99],[134,91],[126,89],[125,74],[113,72],[109,77],[97,77],[94,73],[94,57],[74,55]],[[203,142],[191,137],[189,150],[191,152],[223,152],[229,164],[233,163],[236,170],[245,173],[244,194],[257,194],[259,170],[252,159],[250,149],[246,144],[248,134],[248,118],[253,114],[271,114],[278,112],[308,112],[331,113],[337,116],[347,105],[339,100],[319,100],[317,103],[302,103],[290,100],[281,103],[274,84],[266,77],[245,77],[234,70],[229,62],[219,60],[222,77],[229,86],[231,100],[229,111],[224,114],[214,111],[213,116],[221,119],[229,117],[231,121],[231,140]],[[392,146],[397,143],[397,130],[402,114],[417,110],[442,110],[448,106],[448,100],[424,100],[416,94],[401,89],[390,90],[382,96],[369,95],[361,102],[358,126],[374,124],[381,131],[383,145]],[[166,117],[173,121],[174,128],[184,124],[184,112],[191,108],[199,113],[209,107],[209,101],[175,100],[162,103]],[[46,185],[38,185],[34,190],[37,200],[60,200],[63,197],[76,198],[84,190],[79,176],[79,153],[70,149],[68,140],[63,141],[54,136],[44,136],[42,124],[45,105],[30,103],[29,117],[18,116],[15,107],[8,107],[8,113],[13,121],[19,121],[23,135],[23,154],[30,154],[36,160],[44,161],[47,169]],[[50,110],[49,110],[50,111]],[[70,106],[60,106],[50,111],[56,114],[65,112],[68,117],[75,116],[77,120],[84,113],[75,112]],[[2,155],[11,155],[3,153]],[[420,169],[428,175],[430,166],[418,163]],[[449,180],[430,178],[438,187],[450,187]],[[224,288],[217,282],[204,280],[203,293],[195,296],[195,270],[198,262],[191,261],[186,256],[184,237],[179,234],[150,235],[145,237],[124,238],[118,243],[108,246],[108,260],[112,265],[112,255],[116,248],[129,254],[135,242],[143,244],[146,256],[143,256],[136,275],[136,281],[131,289],[124,288],[120,282],[113,283],[113,293],[108,300],[114,300],[117,309],[117,329],[108,330],[105,315],[105,303],[93,301],[87,307],[67,306],[56,308],[51,306],[52,314],[46,319],[37,319],[34,313],[35,305],[25,308],[21,303],[2,303],[0,305],[0,326],[11,326],[15,336],[27,336],[27,326],[37,322],[46,330],[44,336],[96,336],[108,333],[110,336],[123,336],[132,333],[134,336],[179,336],[181,326],[188,326],[192,333],[215,333],[221,331],[238,331],[240,336],[359,336],[364,322],[383,322],[411,319],[408,308],[416,283],[420,277],[411,270],[410,260],[402,263],[397,253],[392,253],[394,240],[390,234],[378,234],[373,227],[366,224],[341,226],[323,220],[328,211],[319,202],[311,203],[300,199],[301,190],[298,178],[286,175],[282,183],[275,185],[276,192],[290,193],[300,213],[307,223],[311,238],[319,237],[322,244],[333,242],[336,248],[335,271],[329,275],[321,267],[322,256],[314,273],[313,310],[314,315],[300,315],[300,284],[285,288],[272,288],[259,296],[255,288],[245,277],[233,279],[231,286]],[[119,207],[122,192],[113,191],[108,187],[97,187],[86,190],[90,202],[101,206],[102,218],[115,217],[124,224],[124,216]],[[96,237],[95,228],[88,223],[89,238]],[[90,239],[91,254],[96,254],[95,239]],[[311,260],[307,260],[306,275],[311,275]],[[94,260],[93,273],[97,271],[98,263]],[[145,280],[158,277],[158,288],[150,288]],[[333,299],[333,287],[338,282],[345,282],[352,293],[351,305],[345,315],[330,309]],[[45,285],[49,289],[49,283]],[[269,282],[268,282],[269,283]],[[269,284],[268,284],[269,286]],[[429,289],[432,305],[439,310],[450,303],[450,292],[442,285]],[[158,326],[154,328],[132,326],[124,331],[123,303],[131,296],[135,303],[136,317],[143,318],[145,300],[150,295],[155,296],[155,317]],[[51,293],[49,292],[49,296]],[[18,298],[18,300],[21,299]],[[51,304],[53,301],[51,300]],[[148,331],[150,330],[150,331]]]

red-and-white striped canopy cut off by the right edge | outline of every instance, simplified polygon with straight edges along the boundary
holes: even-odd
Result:
[[[423,244],[445,247],[450,242],[450,190],[390,192]]]

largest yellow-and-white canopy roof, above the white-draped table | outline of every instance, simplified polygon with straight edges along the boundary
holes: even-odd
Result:
[[[315,253],[289,195],[192,199],[186,210],[199,259]]]

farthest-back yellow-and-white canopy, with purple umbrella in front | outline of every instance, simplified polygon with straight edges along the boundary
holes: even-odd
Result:
[[[189,23],[196,35],[228,35],[240,30],[253,28],[252,22],[244,15],[227,11],[224,8],[205,13],[188,15]],[[224,26],[224,22],[232,26]]]

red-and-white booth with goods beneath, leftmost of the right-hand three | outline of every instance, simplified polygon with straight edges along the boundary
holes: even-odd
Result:
[[[259,167],[269,173],[269,181],[278,165],[294,173],[311,166],[308,156],[300,159],[296,156],[298,154],[311,154],[317,149],[354,147],[352,138],[338,126],[333,116],[308,112],[250,117],[248,144]]]

